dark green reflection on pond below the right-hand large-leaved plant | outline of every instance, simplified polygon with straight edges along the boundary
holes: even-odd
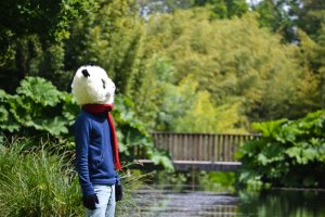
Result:
[[[325,192],[270,190],[238,193],[238,210],[244,216],[324,217]]]

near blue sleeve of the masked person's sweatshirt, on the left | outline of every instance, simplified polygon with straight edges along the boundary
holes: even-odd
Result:
[[[79,175],[83,196],[94,194],[94,189],[89,178],[88,164],[90,130],[90,120],[86,116],[80,115],[75,123],[76,169]]]

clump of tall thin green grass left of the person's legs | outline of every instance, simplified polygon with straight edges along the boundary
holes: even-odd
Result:
[[[24,151],[24,142],[0,151],[1,215],[82,216],[78,180],[64,155]]]

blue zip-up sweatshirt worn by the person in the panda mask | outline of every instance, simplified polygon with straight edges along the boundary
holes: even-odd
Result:
[[[75,123],[76,169],[82,195],[94,194],[93,184],[119,182],[114,169],[107,115],[81,111]]]

